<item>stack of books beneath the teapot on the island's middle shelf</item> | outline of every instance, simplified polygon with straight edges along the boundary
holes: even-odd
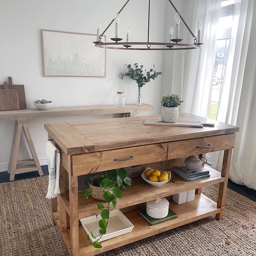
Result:
[[[174,172],[187,181],[210,177],[209,170],[205,169],[204,167],[201,167],[197,171],[189,171],[189,169],[187,169],[186,167],[176,167],[174,169]]]

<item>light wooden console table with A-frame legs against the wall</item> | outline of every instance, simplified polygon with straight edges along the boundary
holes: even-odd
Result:
[[[37,108],[27,108],[13,111],[0,111],[0,121],[15,121],[15,129],[12,140],[12,148],[9,157],[8,173],[10,180],[15,179],[15,174],[24,172],[39,172],[43,175],[35,147],[27,126],[27,119],[52,118],[63,116],[83,116],[83,115],[106,115],[106,114],[123,114],[123,116],[135,116],[136,112],[152,111],[153,106],[143,104],[141,106],[127,104],[125,107],[115,107],[114,105],[99,106],[77,106],[77,107],[59,107],[48,110],[38,110]],[[17,161],[20,137],[22,130],[25,134],[29,150],[32,154],[32,160]]]

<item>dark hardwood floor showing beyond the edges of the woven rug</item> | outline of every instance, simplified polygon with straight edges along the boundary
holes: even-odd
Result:
[[[42,170],[44,175],[48,175],[48,167],[42,166]],[[23,179],[29,179],[38,177],[38,172],[27,172],[22,174],[16,174],[15,180],[23,180]],[[0,183],[3,182],[12,182],[9,181],[9,173],[7,172],[0,172]],[[237,193],[244,195],[245,197],[249,198],[250,200],[253,200],[256,202],[256,191],[254,189],[247,188],[247,186],[239,185],[236,183],[233,183],[230,179],[228,180],[227,184],[228,188],[232,189],[233,191],[236,191]]]

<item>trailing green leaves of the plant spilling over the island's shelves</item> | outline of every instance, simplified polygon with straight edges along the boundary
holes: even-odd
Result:
[[[126,188],[127,185],[131,186],[131,179],[127,176],[127,172],[124,168],[117,170],[110,170],[101,173],[101,175],[96,176],[90,175],[90,178],[85,180],[85,184],[92,185],[91,187],[84,189],[82,192],[82,196],[88,198],[88,195],[93,195],[95,192],[93,191],[93,186],[98,187],[103,194],[103,200],[107,202],[107,206],[105,207],[103,204],[97,202],[97,207],[100,210],[99,215],[101,215],[102,219],[99,220],[99,234],[93,234],[94,239],[97,238],[96,241],[93,242],[93,247],[101,248],[102,245],[99,242],[99,239],[106,233],[108,227],[108,219],[111,209],[116,208],[116,200],[122,198],[121,188]],[[98,214],[96,214],[97,216]],[[87,236],[87,240],[90,241],[89,235]]]

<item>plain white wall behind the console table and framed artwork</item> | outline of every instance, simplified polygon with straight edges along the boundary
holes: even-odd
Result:
[[[42,67],[41,29],[66,32],[96,33],[97,20],[102,28],[113,19],[126,0],[0,0],[0,84],[12,76],[13,84],[24,84],[27,108],[34,108],[37,99],[48,99],[55,107],[79,105],[113,104],[117,90],[125,92],[126,103],[134,103],[137,86],[131,79],[119,78],[124,64],[137,62],[146,69],[155,64],[163,71],[164,58],[172,65],[172,54],[161,51],[120,51],[107,50],[106,78],[85,77],[44,77]],[[150,41],[168,41],[169,24],[165,24],[168,1],[151,1]],[[130,27],[131,41],[147,40],[148,1],[131,0],[120,14],[119,34],[125,38]],[[173,17],[174,18],[174,17]],[[164,32],[163,28],[166,28]],[[103,31],[103,30],[101,30]],[[113,37],[113,25],[106,32]],[[151,81],[142,88],[143,103],[154,106],[160,113],[160,101],[165,75]],[[168,77],[168,76],[167,76]],[[47,133],[45,122],[64,122],[84,117],[29,120],[38,158],[44,164]],[[7,169],[12,144],[14,122],[0,122],[0,171]],[[24,138],[21,141],[19,160],[29,157]]]

